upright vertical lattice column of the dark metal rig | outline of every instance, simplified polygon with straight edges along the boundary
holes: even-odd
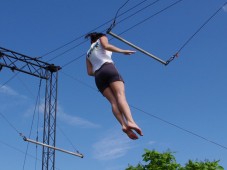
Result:
[[[45,110],[43,143],[55,146],[56,144],[56,113],[57,113],[57,89],[58,68],[49,66],[46,70]],[[42,170],[55,169],[55,149],[44,147],[42,151]]]

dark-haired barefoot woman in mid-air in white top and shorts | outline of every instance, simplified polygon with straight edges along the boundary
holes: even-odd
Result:
[[[123,50],[109,44],[108,38],[102,33],[89,33],[85,38],[90,38],[91,40],[91,46],[86,57],[88,75],[95,77],[97,88],[110,102],[112,112],[121,124],[123,132],[133,140],[138,139],[134,131],[140,136],[143,136],[143,133],[132,118],[125,97],[124,80],[111,58],[112,52],[131,55],[135,51]]]

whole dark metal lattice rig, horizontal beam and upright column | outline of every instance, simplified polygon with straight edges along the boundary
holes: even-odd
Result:
[[[0,47],[0,70],[3,67],[46,80],[42,170],[54,170],[58,71],[61,67]]]

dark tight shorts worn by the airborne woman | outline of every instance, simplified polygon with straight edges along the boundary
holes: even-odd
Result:
[[[115,81],[124,82],[113,63],[105,63],[95,72],[95,83],[101,93]]]

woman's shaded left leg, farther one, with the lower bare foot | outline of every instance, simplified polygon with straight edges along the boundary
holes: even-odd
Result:
[[[114,116],[116,117],[116,119],[118,120],[118,122],[121,124],[122,130],[128,135],[129,138],[134,139],[134,140],[138,139],[138,136],[132,130],[130,130],[128,128],[128,125],[126,124],[126,122],[124,120],[122,112],[118,108],[117,100],[116,100],[111,88],[107,87],[103,91],[103,95],[110,102],[111,107],[112,107],[112,112],[113,112]]]

